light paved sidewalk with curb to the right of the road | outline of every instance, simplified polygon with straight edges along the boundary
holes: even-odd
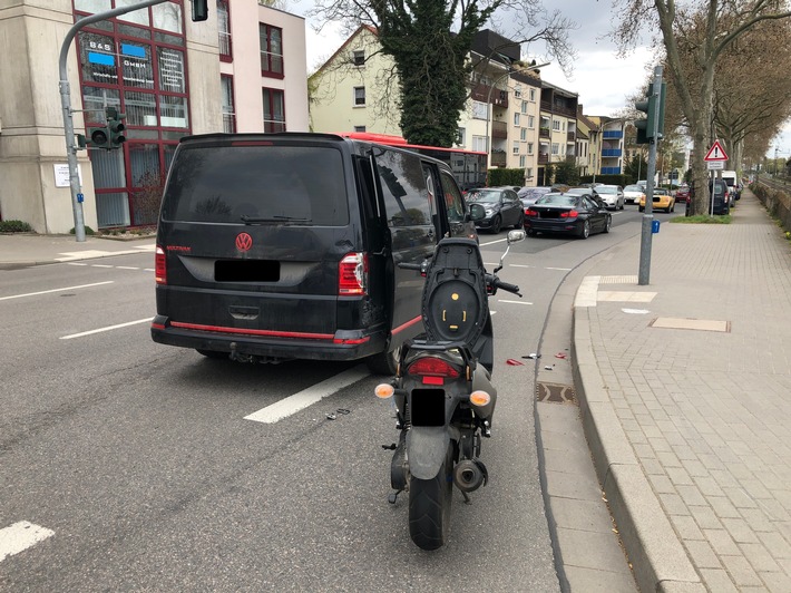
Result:
[[[642,591],[791,592],[791,244],[744,192],[663,223],[575,301],[586,434]]]

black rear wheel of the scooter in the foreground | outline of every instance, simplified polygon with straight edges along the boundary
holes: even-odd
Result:
[[[450,533],[453,494],[453,444],[433,479],[409,478],[409,535],[422,550],[442,547]]]

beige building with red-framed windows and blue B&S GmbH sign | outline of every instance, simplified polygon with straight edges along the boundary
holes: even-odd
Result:
[[[11,0],[0,7],[2,218],[25,221],[39,233],[74,227],[64,110],[52,75],[77,20],[128,4]],[[86,26],[67,48],[76,134],[90,137],[105,126],[108,107],[126,115],[120,148],[77,153],[86,225],[154,223],[183,136],[307,129],[304,19],[256,0],[230,4],[221,1],[207,21],[192,22],[187,0],[165,1]]]

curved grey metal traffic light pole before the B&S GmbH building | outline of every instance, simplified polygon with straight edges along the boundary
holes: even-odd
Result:
[[[72,116],[74,110],[71,109],[71,90],[69,87],[69,75],[67,68],[71,41],[74,41],[77,32],[87,25],[91,25],[100,20],[107,20],[113,17],[117,17],[118,14],[126,14],[133,10],[139,10],[140,8],[162,4],[166,1],[167,0],[145,0],[144,2],[138,2],[136,4],[116,8],[114,10],[106,10],[104,12],[97,12],[96,14],[85,17],[69,29],[69,32],[66,33],[66,39],[64,39],[64,43],[60,46],[60,60],[58,62],[60,72],[60,105],[64,109],[64,136],[66,137],[66,158],[69,164],[71,210],[74,211],[75,217],[75,236],[78,242],[85,241],[85,216],[82,214],[82,194],[80,193],[79,174],[77,169],[77,146],[75,146],[75,124]]]

